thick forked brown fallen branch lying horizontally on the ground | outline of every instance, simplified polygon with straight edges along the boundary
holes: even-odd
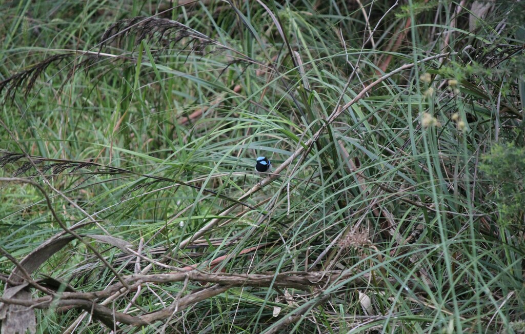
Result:
[[[197,302],[215,297],[233,287],[254,287],[254,288],[296,288],[302,290],[316,290],[319,287],[330,283],[341,284],[344,288],[359,288],[370,286],[370,275],[368,273],[356,273],[355,270],[333,270],[331,272],[286,272],[278,275],[274,274],[225,274],[225,273],[203,273],[197,270],[185,273],[151,274],[151,275],[129,275],[123,276],[126,285],[130,287],[127,292],[137,290],[139,286],[146,283],[150,284],[169,284],[186,280],[194,281],[197,284],[212,284],[203,289],[196,289],[187,295],[176,299],[173,304],[160,310],[145,313],[139,316],[131,316],[123,312],[118,312],[106,305],[97,304],[98,299],[112,296],[123,288],[120,281],[101,291],[90,292],[63,292],[58,295],[44,296],[34,299],[10,298],[9,296],[0,297],[0,302],[6,305],[19,305],[31,309],[49,308],[77,308],[91,313],[96,319],[101,320],[108,327],[113,328],[114,323],[120,322],[131,326],[150,325],[159,320],[165,320],[173,316],[176,312],[181,312]],[[377,278],[377,276],[376,276]],[[376,286],[396,285],[398,282],[394,278],[386,281],[377,281]],[[414,290],[421,291],[415,284],[409,284]],[[337,293],[333,290],[332,293]],[[322,291],[318,291],[323,295]],[[329,299],[331,294],[324,295],[321,301]],[[302,308],[300,308],[302,309]],[[9,315],[8,315],[9,316]]]

